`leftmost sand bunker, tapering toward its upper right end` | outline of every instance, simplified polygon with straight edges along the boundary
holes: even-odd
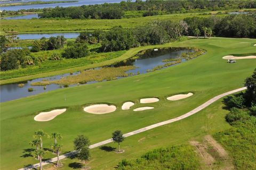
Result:
[[[55,109],[52,111],[47,111],[47,112],[41,112],[40,114],[36,115],[34,117],[34,120],[38,122],[46,122],[49,120],[54,119],[56,116],[63,114],[67,109]]]

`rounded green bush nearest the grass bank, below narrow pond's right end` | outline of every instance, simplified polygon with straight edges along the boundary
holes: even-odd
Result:
[[[75,43],[74,46],[67,47],[61,55],[66,59],[77,59],[89,55],[89,50],[86,44]]]

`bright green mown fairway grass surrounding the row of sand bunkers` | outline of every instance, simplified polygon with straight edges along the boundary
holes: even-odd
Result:
[[[213,96],[242,87],[244,79],[252,74],[256,60],[239,60],[235,64],[229,64],[222,56],[254,52],[251,45],[254,42],[255,39],[210,38],[159,45],[158,47],[196,46],[205,49],[207,53],[177,66],[147,74],[70,87],[1,103],[1,169],[18,169],[37,163],[29,153],[29,149],[34,147],[28,144],[37,129],[44,129],[49,134],[61,133],[63,139],[59,143],[63,144],[64,153],[73,150],[73,140],[77,134],[85,134],[93,144],[109,139],[116,129],[127,133],[162,122],[185,114]],[[123,54],[123,58],[129,58],[149,47],[133,48]],[[193,92],[194,95],[180,101],[166,100],[166,96],[185,92]],[[153,96],[160,101],[139,103],[139,99]],[[121,106],[125,101],[136,104],[124,111]],[[99,102],[113,103],[117,110],[111,114],[94,115],[87,114],[82,109],[84,104]],[[155,109],[132,111],[141,106]],[[39,111],[58,107],[68,109],[49,122],[35,122],[34,117]],[[222,107],[222,102],[217,101],[179,122],[127,137],[121,144],[121,149],[125,150],[122,154],[107,152],[103,148],[92,149],[89,166],[93,169],[113,169],[124,158],[137,158],[155,148],[187,143],[191,138],[227,129],[230,127],[224,119],[227,110]],[[46,137],[43,141],[45,148],[49,148],[53,142]],[[117,147],[115,143],[107,146]],[[49,152],[44,158],[52,157],[55,155]],[[12,164],[14,159],[16,164]],[[73,169],[79,161],[69,158],[62,160],[62,163],[65,164],[62,169]]]

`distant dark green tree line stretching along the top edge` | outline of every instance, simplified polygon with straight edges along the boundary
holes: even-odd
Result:
[[[73,18],[73,19],[121,19],[125,11],[146,11],[143,16],[157,15],[158,11],[166,13],[185,13],[191,11],[215,11],[230,9],[256,8],[256,2],[247,1],[122,1],[113,4],[83,5],[78,7],[55,7],[45,9],[40,18]]]

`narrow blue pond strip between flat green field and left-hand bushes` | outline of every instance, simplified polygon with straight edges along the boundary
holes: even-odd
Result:
[[[32,33],[32,34],[17,34],[20,39],[41,39],[42,37],[50,38],[52,36],[61,36],[65,38],[77,38],[80,33]]]

